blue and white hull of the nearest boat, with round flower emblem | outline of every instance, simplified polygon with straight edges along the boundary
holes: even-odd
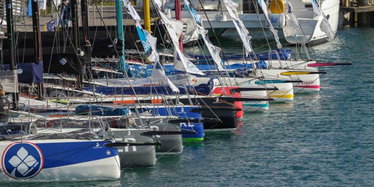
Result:
[[[0,142],[0,182],[112,180],[120,177],[118,152],[102,140]]]

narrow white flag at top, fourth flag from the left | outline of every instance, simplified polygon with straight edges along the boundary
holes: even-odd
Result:
[[[238,4],[231,0],[223,0],[223,1],[228,11],[228,14],[230,15],[232,19],[232,22],[234,23],[235,28],[238,31],[238,34],[243,41],[243,45],[245,48],[245,55],[248,56],[248,54],[252,52],[252,49],[249,44],[249,40],[251,39],[251,37],[248,36],[249,32],[245,28],[243,21],[238,16],[238,11],[236,9],[238,7]]]

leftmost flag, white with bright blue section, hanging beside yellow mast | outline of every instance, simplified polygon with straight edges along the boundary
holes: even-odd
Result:
[[[135,11],[134,7],[131,5],[129,0],[123,0],[125,9],[128,14],[131,15],[131,17],[136,22],[136,30],[138,32],[139,38],[142,41],[144,51],[146,52],[148,59],[151,62],[154,62],[154,68],[152,71],[152,75],[150,78],[153,81],[163,82],[165,84],[168,84],[170,88],[173,90],[173,92],[179,92],[179,89],[168,79],[168,77],[165,75],[165,71],[162,68],[158,56],[158,53],[156,51],[156,42],[157,38],[152,37],[150,33],[142,28],[142,25],[140,24],[140,17],[138,13]]]

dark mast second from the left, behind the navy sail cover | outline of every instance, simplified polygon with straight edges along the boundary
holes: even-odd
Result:
[[[34,34],[34,49],[35,58],[34,62],[36,64],[43,63],[43,57],[41,55],[41,37],[40,37],[40,27],[39,27],[39,1],[32,0],[31,10],[33,18],[33,34]],[[37,83],[37,99],[42,100],[43,98],[43,83]]]

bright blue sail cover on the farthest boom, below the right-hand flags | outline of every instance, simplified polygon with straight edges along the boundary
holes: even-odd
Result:
[[[277,50],[281,60],[288,60],[291,56],[291,50],[290,49],[278,49]],[[213,62],[212,57],[210,55],[193,55],[188,54],[188,56],[191,56],[195,59],[199,58],[199,63],[202,62]],[[256,53],[255,55],[250,54],[248,57],[245,57],[244,54],[233,54],[233,53],[225,53],[224,56],[227,60],[242,60],[242,59],[258,59],[258,60],[269,60],[269,59],[278,59],[278,56],[275,51],[272,51],[270,56],[269,53]],[[224,62],[224,56],[221,55],[222,61]],[[256,56],[256,57],[255,57]],[[192,62],[197,62],[197,60],[194,60]]]

